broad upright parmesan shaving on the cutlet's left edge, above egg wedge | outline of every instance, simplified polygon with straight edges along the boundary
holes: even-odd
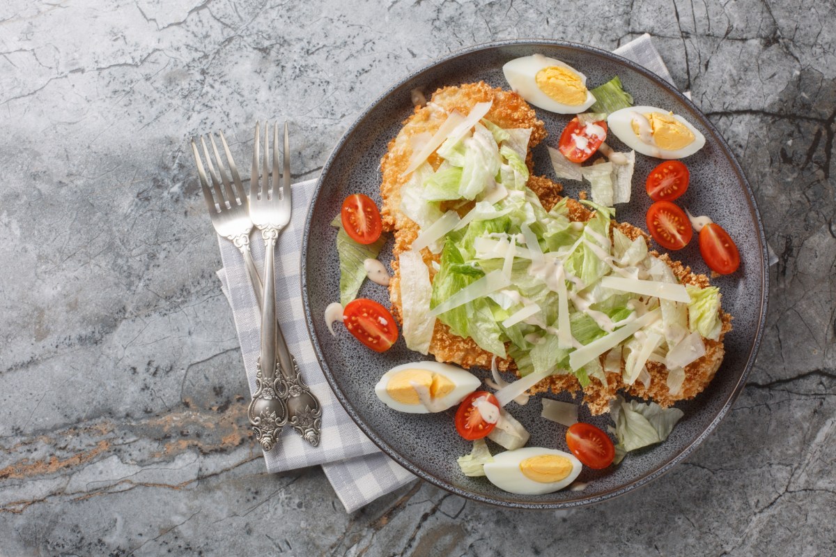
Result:
[[[421,253],[407,250],[400,253],[400,313],[404,318],[401,328],[406,347],[421,354],[430,351],[432,331],[436,319],[430,313],[432,285],[430,272]]]

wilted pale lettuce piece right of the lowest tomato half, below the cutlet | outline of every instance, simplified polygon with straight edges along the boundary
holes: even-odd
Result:
[[[610,432],[619,440],[615,446],[616,464],[626,452],[665,441],[684,416],[679,408],[662,408],[655,402],[625,401],[620,395],[610,402],[609,413],[615,422]]]

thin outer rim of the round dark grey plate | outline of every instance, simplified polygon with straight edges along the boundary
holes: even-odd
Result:
[[[758,315],[757,319],[757,332],[755,334],[754,340],[752,341],[752,346],[749,350],[747,363],[745,365],[743,373],[740,376],[740,380],[737,381],[737,385],[726,399],[726,402],[721,407],[721,410],[718,411],[716,416],[714,416],[714,418],[711,420],[711,423],[708,424],[706,429],[701,433],[699,437],[696,437],[696,439],[693,442],[683,447],[681,452],[676,454],[674,457],[670,458],[670,460],[668,460],[667,462],[661,464],[659,467],[649,470],[640,478],[636,478],[634,481],[626,483],[619,488],[610,489],[609,491],[606,491],[604,493],[598,493],[594,497],[579,498],[573,499],[571,501],[563,501],[558,503],[532,503],[523,501],[498,500],[480,495],[478,493],[472,493],[470,491],[467,491],[466,489],[457,488],[456,486],[447,483],[445,480],[442,480],[441,478],[436,478],[436,476],[434,476],[432,473],[429,473],[424,468],[421,468],[419,464],[407,460],[405,457],[400,455],[400,453],[397,452],[394,448],[390,447],[388,443],[383,441],[383,439],[381,439],[380,436],[378,436],[377,432],[375,432],[374,429],[369,427],[368,424],[366,424],[360,418],[360,416],[354,410],[354,406],[352,405],[351,401],[349,401],[348,398],[344,395],[343,391],[339,389],[339,386],[334,379],[334,375],[332,374],[331,370],[329,369],[328,363],[325,360],[325,355],[323,353],[322,347],[319,345],[319,340],[317,339],[317,336],[314,332],[314,316],[310,309],[310,299],[308,298],[308,289],[306,288],[308,284],[306,263],[308,254],[308,243],[310,239],[310,223],[314,215],[314,207],[316,206],[317,199],[319,198],[319,193],[322,191],[325,178],[326,176],[328,176],[331,166],[334,165],[334,161],[336,160],[336,157],[339,156],[341,148],[350,141],[351,136],[354,134],[354,131],[357,130],[361,124],[364,123],[364,120],[366,120],[366,118],[370,116],[370,114],[375,110],[375,107],[377,105],[383,102],[396,89],[400,88],[400,86],[402,86],[406,82],[421,76],[421,74],[424,74],[430,69],[435,69],[437,66],[441,64],[446,64],[451,60],[466,57],[468,55],[481,52],[483,50],[497,49],[507,46],[560,47],[563,49],[579,50],[585,54],[592,54],[594,56],[610,59],[617,64],[627,66],[633,71],[644,75],[647,79],[650,79],[650,81],[654,82],[657,86],[659,86],[662,89],[665,89],[670,94],[674,95],[678,100],[680,100],[682,105],[685,105],[686,108],[688,108],[688,110],[691,110],[691,114],[694,115],[698,120],[700,120],[701,124],[704,125],[706,129],[711,132],[712,139],[716,141],[716,144],[721,147],[723,155],[726,156],[726,159],[728,159],[728,161],[731,163],[732,168],[737,174],[737,178],[742,184],[743,190],[744,192],[746,192],[747,195],[747,204],[749,207],[749,212],[752,216],[752,222],[757,227],[757,243],[758,247],[760,248],[761,256],[761,308],[760,314]],[[670,471],[671,468],[675,467],[676,464],[678,464],[689,454],[691,454],[691,452],[693,452],[694,449],[696,449],[696,447],[698,447],[701,444],[701,442],[703,442],[706,439],[706,437],[708,437],[708,435],[716,429],[717,425],[721,422],[723,417],[726,416],[729,409],[732,407],[734,401],[737,400],[737,396],[740,395],[741,391],[743,390],[743,387],[746,385],[747,377],[749,376],[749,372],[752,370],[752,365],[754,364],[755,358],[757,356],[757,350],[760,348],[761,345],[763,328],[767,318],[767,305],[769,299],[769,267],[767,241],[766,235],[763,231],[761,215],[760,212],[758,212],[757,210],[757,203],[755,202],[755,196],[752,192],[752,187],[749,185],[749,181],[747,181],[746,175],[743,173],[742,167],[737,162],[737,158],[732,154],[732,151],[726,143],[726,140],[723,139],[720,132],[711,123],[711,120],[708,120],[706,115],[703,115],[701,110],[699,110],[696,107],[696,105],[694,105],[694,103],[691,102],[690,99],[683,95],[681,91],[679,91],[679,89],[676,89],[672,84],[667,82],[665,79],[660,78],[657,74],[650,72],[650,70],[646,69],[644,66],[636,64],[635,62],[629,59],[625,59],[619,56],[618,54],[613,54],[606,50],[597,49],[589,45],[570,43],[567,41],[560,41],[548,38],[521,38],[512,40],[502,40],[494,41],[491,43],[481,43],[473,45],[471,47],[466,47],[465,49],[459,49],[452,52],[451,54],[447,54],[446,56],[440,57],[431,61],[428,64],[425,64],[420,69],[415,70],[414,72],[406,75],[404,78],[398,80],[395,84],[390,85],[390,87],[386,89],[384,93],[382,93],[377,99],[372,101],[370,105],[368,105],[365,108],[365,110],[363,110],[362,114],[359,115],[357,120],[354,120],[354,123],[349,126],[349,129],[345,131],[343,136],[337,142],[337,145],[334,146],[334,149],[331,151],[331,154],[329,155],[328,161],[325,162],[325,165],[323,166],[323,169],[319,174],[319,179],[317,180],[316,187],[314,188],[310,205],[308,206],[308,215],[305,220],[305,227],[302,237],[301,253],[303,254],[303,257],[301,257],[299,261],[299,278],[302,286],[302,304],[305,313],[305,324],[308,327],[308,335],[311,337],[311,344],[314,346],[314,354],[316,355],[317,360],[319,360],[319,365],[322,367],[325,379],[328,381],[329,386],[331,386],[331,390],[334,391],[334,396],[336,396],[337,400],[339,400],[339,403],[343,405],[345,411],[349,414],[349,416],[351,416],[351,419],[354,420],[354,422],[357,424],[360,430],[362,430],[364,434],[368,436],[372,442],[375,443],[375,445],[380,447],[381,451],[385,452],[385,454],[394,459],[395,462],[400,464],[400,466],[409,470],[418,478],[425,479],[427,482],[432,483],[433,485],[436,485],[437,487],[445,489],[446,491],[449,491],[451,493],[456,493],[456,495],[461,495],[461,497],[469,498],[480,503],[487,503],[505,508],[529,508],[549,510],[558,508],[574,508],[594,503],[600,503],[602,501],[618,497],[619,495],[624,495],[624,493],[628,493],[634,490],[635,488],[640,488],[646,485],[647,483],[650,483],[651,481],[655,480],[656,478],[660,478],[660,476]],[[752,269],[752,272],[754,271],[755,269]]]

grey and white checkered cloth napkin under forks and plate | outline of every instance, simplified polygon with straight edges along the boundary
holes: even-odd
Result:
[[[650,35],[642,35],[615,49],[614,52],[673,83],[665,63],[650,41]],[[314,180],[293,185],[293,220],[278,238],[276,313],[290,352],[296,356],[302,376],[322,404],[322,439],[319,447],[311,447],[287,428],[276,447],[271,452],[264,453],[264,460],[268,472],[322,465],[339,500],[350,513],[409,483],[415,476],[385,456],[360,432],[339,401],[334,398],[314,356],[314,348],[304,323],[299,282],[299,250],[308,203],[313,191]],[[260,350],[259,308],[247,279],[241,254],[224,238],[219,237],[218,244],[221,247],[223,268],[217,274],[221,279],[223,292],[232,306],[238,340],[241,341],[244,368],[247,370],[252,393],[256,390],[256,360]],[[252,258],[259,266],[264,260],[264,244],[257,234],[252,235],[251,245]]]

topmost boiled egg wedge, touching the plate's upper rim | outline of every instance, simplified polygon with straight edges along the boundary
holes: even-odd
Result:
[[[517,95],[543,110],[578,114],[595,103],[584,74],[543,54],[512,59],[502,73]]]

